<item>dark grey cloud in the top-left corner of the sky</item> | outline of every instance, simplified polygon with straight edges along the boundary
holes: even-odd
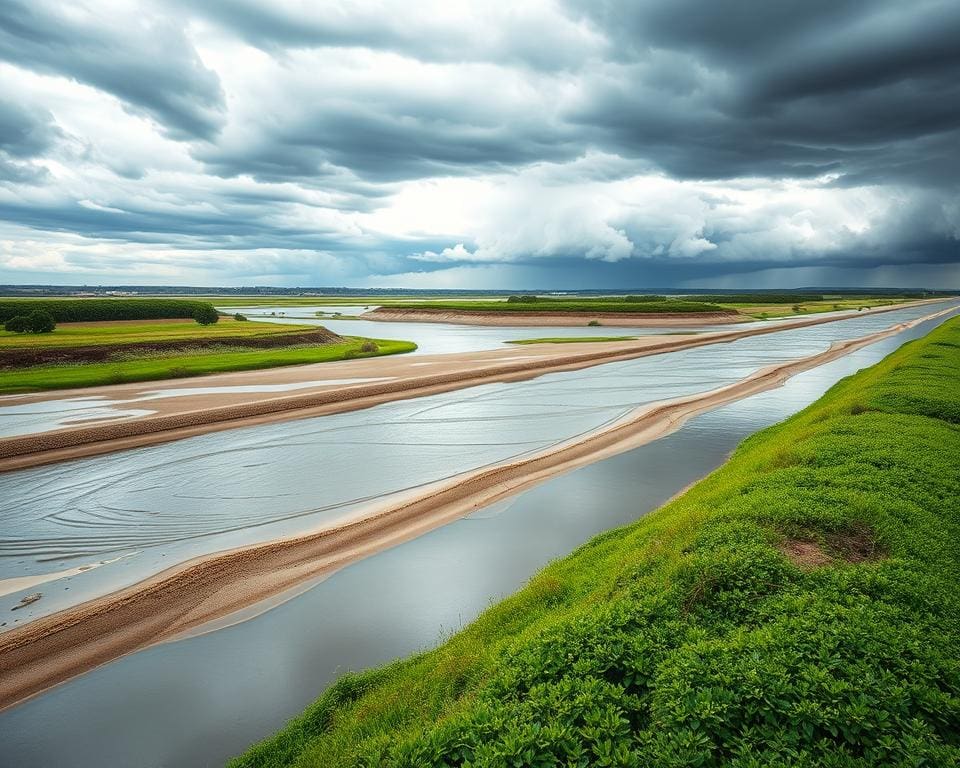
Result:
[[[177,139],[210,139],[224,121],[217,75],[177,19],[127,18],[42,0],[0,3],[0,58],[113,94]]]

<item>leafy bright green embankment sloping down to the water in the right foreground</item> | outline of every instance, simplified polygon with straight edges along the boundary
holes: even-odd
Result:
[[[958,579],[953,320],[232,765],[956,766]]]

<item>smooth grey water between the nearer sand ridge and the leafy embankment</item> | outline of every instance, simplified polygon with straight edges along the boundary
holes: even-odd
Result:
[[[0,764],[222,765],[344,671],[435,645],[550,560],[643,516],[721,464],[747,435],[939,322],[355,563],[247,621],[149,648],[48,691],[0,714]]]

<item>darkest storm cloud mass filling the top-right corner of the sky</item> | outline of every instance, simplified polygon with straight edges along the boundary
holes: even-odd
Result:
[[[611,40],[573,119],[685,178],[956,179],[960,5],[951,0],[575,3]],[[681,71],[657,76],[673,56]],[[684,79],[682,72],[686,71]]]

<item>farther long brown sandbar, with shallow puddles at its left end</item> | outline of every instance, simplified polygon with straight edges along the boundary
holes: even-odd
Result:
[[[903,306],[882,307],[872,312],[890,312]],[[857,316],[860,315],[852,317]],[[202,379],[120,384],[0,397],[0,405],[69,397],[100,396],[125,400],[135,398],[143,392],[182,387],[286,384],[346,378],[386,379],[347,386],[326,386],[318,383],[311,388],[283,395],[264,392],[214,392],[134,403],[128,407],[147,408],[156,412],[136,419],[87,422],[82,426],[67,429],[0,439],[0,472],[168,442],[217,430],[367,408],[390,400],[422,397],[495,381],[518,381],[544,373],[575,370],[599,363],[734,341],[746,336],[839,322],[843,319],[847,318],[809,317],[696,335],[645,336],[622,342],[533,344],[454,355],[392,356],[245,371],[205,376]]]

